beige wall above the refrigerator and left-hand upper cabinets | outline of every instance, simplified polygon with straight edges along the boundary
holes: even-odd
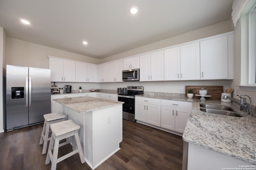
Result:
[[[48,68],[48,55],[93,64],[100,63],[100,60],[92,57],[78,55],[10,37],[7,37],[6,39],[6,64]]]

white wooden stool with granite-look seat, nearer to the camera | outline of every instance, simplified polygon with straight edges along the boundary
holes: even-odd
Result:
[[[50,128],[52,129],[52,137],[50,140],[50,145],[46,156],[45,164],[47,165],[51,161],[51,170],[56,170],[58,162],[76,153],[79,153],[81,163],[83,164],[85,162],[84,154],[78,137],[78,129],[80,129],[80,126],[76,125],[72,120],[66,120],[51,124]],[[60,143],[60,140],[62,139],[66,139],[66,142]],[[73,151],[58,158],[59,147],[62,147],[63,145],[66,145],[68,143],[72,143]]]

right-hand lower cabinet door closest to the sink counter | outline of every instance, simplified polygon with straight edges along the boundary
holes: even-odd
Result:
[[[176,117],[175,117],[175,131],[184,133],[186,124],[188,122],[188,117],[190,110],[176,108]]]

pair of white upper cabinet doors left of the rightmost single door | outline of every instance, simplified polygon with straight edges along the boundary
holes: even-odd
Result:
[[[164,50],[164,80],[199,79],[199,43],[191,43]]]

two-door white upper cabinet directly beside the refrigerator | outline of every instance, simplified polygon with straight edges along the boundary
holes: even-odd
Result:
[[[76,62],[49,57],[52,82],[75,82]]]

